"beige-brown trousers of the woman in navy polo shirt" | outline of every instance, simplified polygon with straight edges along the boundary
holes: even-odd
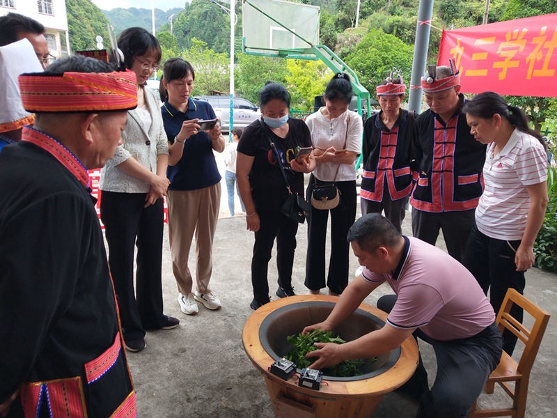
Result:
[[[187,263],[195,233],[197,291],[207,293],[213,270],[212,248],[221,204],[221,183],[197,190],[168,190],[166,203],[172,271],[178,291],[182,295],[193,291]]]

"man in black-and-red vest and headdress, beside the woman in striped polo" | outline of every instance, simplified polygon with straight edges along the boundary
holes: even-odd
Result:
[[[439,229],[448,254],[462,261],[474,210],[483,192],[485,145],[480,144],[462,114],[460,72],[430,65],[421,80],[430,107],[414,128],[414,156],[418,171],[411,194],[412,235],[435,245]]]

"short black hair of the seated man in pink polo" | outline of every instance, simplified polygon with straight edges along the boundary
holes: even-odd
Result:
[[[358,247],[372,253],[382,245],[395,247],[400,236],[389,219],[379,213],[368,213],[354,222],[346,239],[348,242],[356,241]]]

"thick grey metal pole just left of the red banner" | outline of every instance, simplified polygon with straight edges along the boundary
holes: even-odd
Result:
[[[410,80],[410,95],[408,110],[416,113],[421,111],[422,88],[421,78],[425,72],[427,47],[430,43],[430,22],[433,15],[433,0],[420,0],[418,8],[418,22],[416,23],[416,44],[414,46],[414,60],[412,61],[412,77]]]

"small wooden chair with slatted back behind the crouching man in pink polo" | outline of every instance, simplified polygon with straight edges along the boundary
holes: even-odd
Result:
[[[534,325],[528,330],[524,325],[519,323],[515,318],[510,316],[510,308],[512,304],[519,305],[524,311],[528,312],[534,318]],[[520,361],[515,362],[510,355],[503,351],[499,366],[489,375],[484,390],[488,394],[494,391],[495,383],[499,383],[501,387],[512,398],[512,408],[500,408],[493,410],[480,410],[477,407],[477,401],[472,405],[469,417],[517,417],[524,418],[526,411],[526,398],[528,396],[528,382],[530,380],[530,371],[534,364],[535,356],[538,354],[538,348],[542,342],[549,314],[540,309],[526,297],[509,289],[505,295],[505,300],[501,305],[501,310],[497,315],[496,323],[503,330],[508,329],[510,332],[518,336],[525,344],[524,353],[520,357]],[[509,382],[515,382],[515,387],[509,385]]]

